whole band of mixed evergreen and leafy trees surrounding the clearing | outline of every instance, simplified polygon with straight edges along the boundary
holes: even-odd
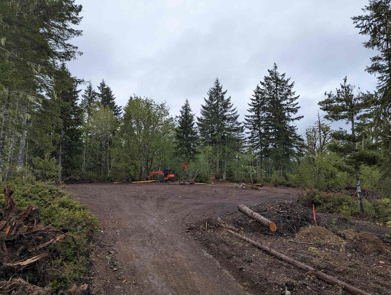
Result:
[[[386,191],[390,179],[390,1],[371,0],[352,18],[364,46],[377,54],[366,67],[378,86],[363,92],[348,78],[325,93],[304,136],[296,123],[300,96],[274,63],[254,85],[244,121],[218,78],[206,90],[200,116],[188,100],[179,116],[166,102],[133,94],[120,107],[109,85],[96,89],[70,73],[82,53],[82,6],[72,0],[0,3],[0,176],[38,179],[144,180],[172,168],[179,178],[273,181],[331,189],[366,186]],[[81,100],[79,100],[81,96]],[[349,130],[332,130],[345,121]],[[361,177],[361,178],[360,178]],[[389,190],[388,190],[389,191]],[[360,199],[360,197],[359,197]]]

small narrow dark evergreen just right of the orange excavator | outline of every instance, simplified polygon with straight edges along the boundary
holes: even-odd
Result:
[[[197,147],[197,131],[194,128],[194,114],[190,109],[188,99],[181,107],[181,114],[178,118],[178,127],[176,128],[176,152],[181,159],[190,162],[194,159]]]

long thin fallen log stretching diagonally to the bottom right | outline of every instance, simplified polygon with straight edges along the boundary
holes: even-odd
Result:
[[[257,243],[255,241],[251,240],[251,239],[248,239],[245,236],[240,235],[239,233],[235,233],[231,230],[228,230],[228,232],[230,232],[231,234],[235,235],[236,237],[238,237],[238,238],[240,238],[250,244],[253,244],[257,248],[260,248],[260,249],[266,251],[269,255],[275,256],[275,257],[277,257],[283,261],[286,261],[289,264],[292,264],[293,266],[296,266],[297,268],[300,268],[302,270],[310,271],[313,275],[315,275],[319,279],[322,279],[323,281],[326,281],[326,282],[330,282],[334,285],[338,285],[341,288],[344,288],[345,290],[349,291],[350,293],[357,294],[357,295],[370,295],[369,293],[366,293],[365,291],[357,289],[356,287],[353,287],[350,284],[347,284],[343,281],[339,281],[338,279],[335,279],[335,277],[332,277],[330,275],[326,275],[325,273],[323,273],[321,271],[317,271],[317,270],[315,270],[315,268],[312,268],[311,266],[308,266],[307,264],[304,264],[300,261],[297,261],[296,259],[293,259],[287,255],[284,255],[280,252],[277,252],[276,250],[273,250],[267,246],[264,246],[263,244],[260,244],[260,243]]]

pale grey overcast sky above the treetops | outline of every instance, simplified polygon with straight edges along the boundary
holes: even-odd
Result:
[[[303,134],[317,102],[344,76],[362,90],[376,86],[364,71],[374,52],[350,19],[368,0],[76,2],[84,33],[72,43],[84,54],[70,71],[95,86],[104,79],[118,105],[148,96],[167,101],[175,116],[188,98],[199,116],[218,77],[243,120],[253,89],[276,62],[300,94]]]

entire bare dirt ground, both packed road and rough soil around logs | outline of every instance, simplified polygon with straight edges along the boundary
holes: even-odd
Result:
[[[310,211],[291,203],[296,200],[297,189],[266,185],[252,190],[216,182],[74,184],[66,190],[76,194],[100,220],[93,261],[102,279],[91,277],[95,294],[345,292],[228,235],[215,226],[217,217],[243,228],[243,234],[250,239],[262,241],[328,275],[346,279],[366,291],[390,292],[389,244],[380,241],[384,244],[378,245],[380,252],[364,255],[352,245],[357,235],[345,241],[335,233],[336,239],[330,240],[334,244],[288,241],[298,239],[300,230],[312,223]],[[252,207],[273,220],[278,230],[268,232],[237,212],[238,204]],[[260,205],[254,207],[256,204]],[[289,213],[268,210],[268,205]],[[319,216],[318,224],[329,232],[355,228],[355,223],[346,222],[333,230],[331,219],[322,217]],[[336,243],[339,239],[341,243]]]

